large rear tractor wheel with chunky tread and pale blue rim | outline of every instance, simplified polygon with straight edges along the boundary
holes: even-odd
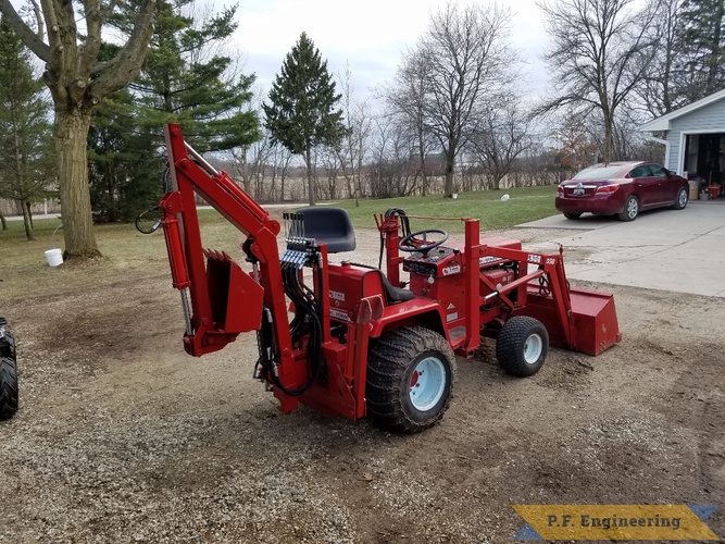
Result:
[[[421,326],[383,335],[367,357],[367,416],[398,432],[427,429],[448,409],[455,355],[440,334]]]

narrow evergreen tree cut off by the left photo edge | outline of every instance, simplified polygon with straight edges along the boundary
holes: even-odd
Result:
[[[46,188],[53,159],[42,89],[30,52],[0,18],[0,197],[20,205],[28,240],[34,238],[28,202]]]

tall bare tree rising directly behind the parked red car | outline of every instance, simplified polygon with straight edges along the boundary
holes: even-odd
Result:
[[[649,28],[657,10],[637,11],[637,0],[545,0],[539,3],[552,46],[545,55],[554,89],[537,113],[575,104],[601,113],[602,159],[614,158],[617,110],[643,76],[654,54]]]

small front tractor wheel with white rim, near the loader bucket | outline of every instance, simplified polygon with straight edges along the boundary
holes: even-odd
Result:
[[[549,333],[543,324],[525,316],[509,319],[496,341],[496,358],[509,374],[528,378],[536,374],[549,351]]]

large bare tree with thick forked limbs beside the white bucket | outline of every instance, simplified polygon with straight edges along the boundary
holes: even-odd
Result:
[[[125,87],[140,72],[153,33],[155,0],[84,0],[80,5],[71,0],[30,1],[37,18],[35,30],[18,15],[11,0],[0,0],[0,11],[46,65],[42,78],[55,110],[65,257],[93,257],[100,254],[92,231],[86,159],[90,115],[103,97]],[[121,11],[135,13],[133,29],[115,57],[101,61],[102,29],[109,17]],[[84,18],[80,28],[79,18]]]

